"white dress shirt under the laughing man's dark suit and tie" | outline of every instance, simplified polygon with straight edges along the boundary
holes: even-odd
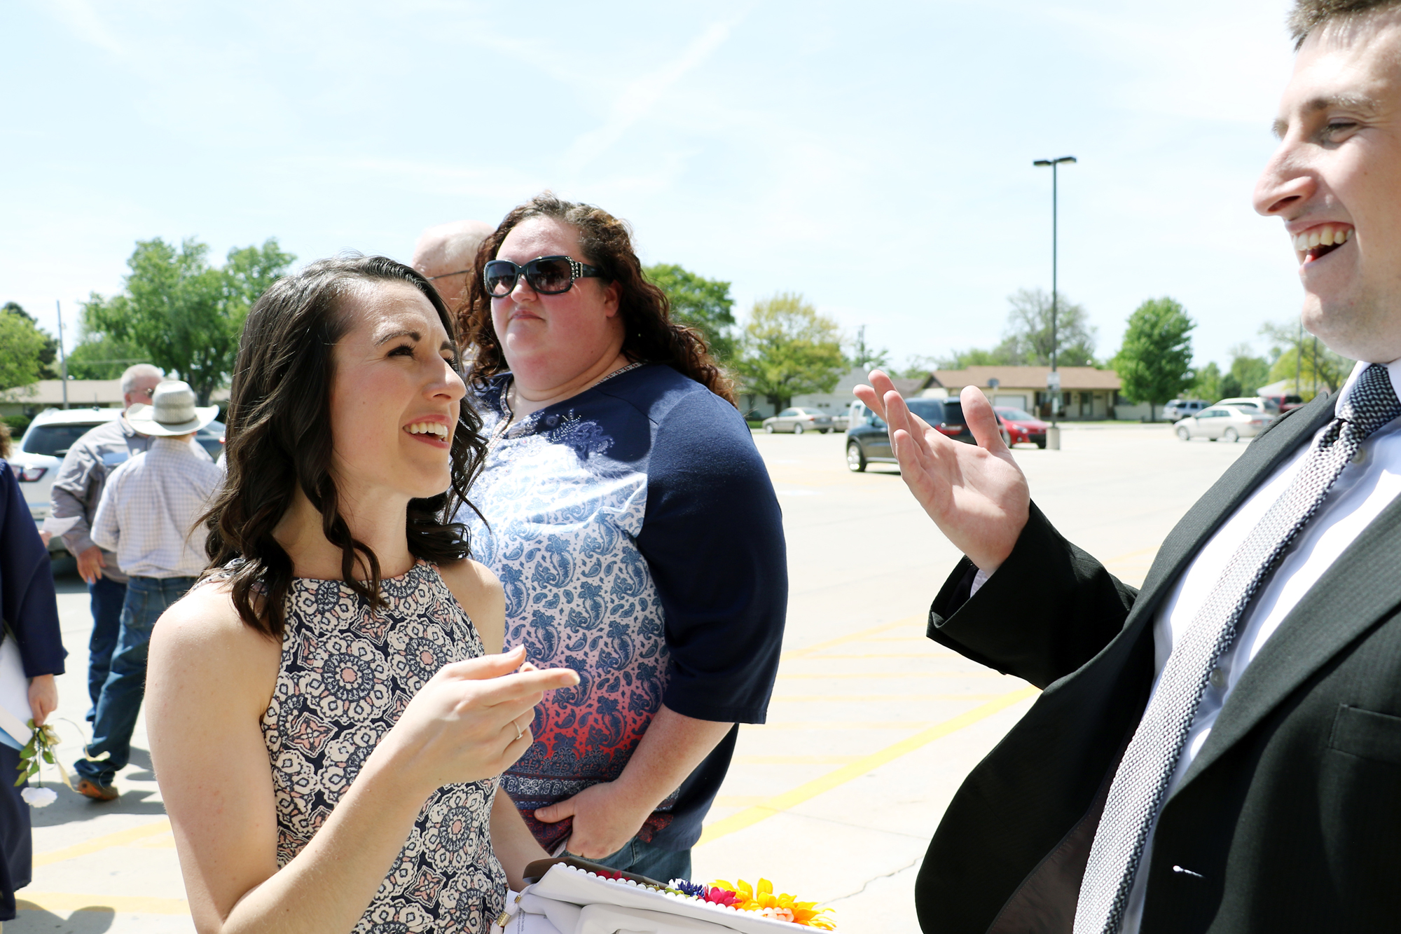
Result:
[[[1344,383],[1338,400],[1351,394],[1353,383],[1369,363],[1358,363],[1348,381]],[[1401,398],[1401,360],[1387,365],[1391,376],[1391,387]],[[1320,428],[1317,435],[1328,431],[1327,425]],[[1316,435],[1316,438],[1317,438]],[[1153,620],[1154,665],[1157,675],[1153,679],[1153,691],[1157,693],[1163,669],[1167,666],[1167,656],[1173,654],[1173,647],[1182,638],[1187,627],[1196,618],[1196,613],[1206,603],[1222,571],[1236,554],[1236,550],[1245,541],[1255,524],[1264,517],[1275,501],[1289,488],[1311,445],[1302,445],[1299,450],[1285,461],[1264,484],[1255,488],[1231,515],[1226,523],[1216,530],[1202,550],[1196,553],[1187,572],[1177,581],[1173,592],[1159,609]],[[1377,515],[1401,494],[1401,419],[1393,421],[1366,442],[1352,463],[1344,467],[1342,474],[1328,491],[1318,512],[1300,529],[1293,546],[1285,553],[1283,560],[1275,572],[1264,582],[1259,593],[1241,614],[1236,624],[1236,641],[1222,655],[1220,662],[1212,672],[1206,693],[1196,708],[1196,718],[1187,733],[1187,746],[1177,763],[1177,770],[1167,787],[1164,801],[1171,797],[1177,784],[1182,780],[1192,759],[1201,752],[1206,738],[1216,725],[1216,718],[1222,707],[1230,698],[1236,684],[1240,683],[1245,668],[1259,655],[1259,649],[1279,624],[1289,616],[1299,600],[1309,593],[1332,562],[1338,560],[1348,546],[1351,546],[1362,530],[1366,529]],[[1124,914],[1124,934],[1138,934],[1143,919],[1143,898],[1147,889],[1147,865],[1153,853],[1153,830],[1149,830],[1147,843],[1143,848],[1143,858],[1139,861],[1138,878],[1133,881],[1133,891],[1129,893],[1129,905]],[[1191,867],[1184,867],[1191,868]]]

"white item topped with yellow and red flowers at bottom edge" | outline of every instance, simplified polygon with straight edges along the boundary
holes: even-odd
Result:
[[[835,931],[831,909],[775,895],[768,879],[751,886],[709,885],[618,872],[574,860],[539,860],[525,869],[530,885],[499,921],[509,934],[799,934]]]

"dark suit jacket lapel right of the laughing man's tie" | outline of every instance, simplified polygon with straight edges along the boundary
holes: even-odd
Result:
[[[1181,785],[1248,733],[1314,672],[1401,604],[1401,498],[1338,555],[1251,661]]]

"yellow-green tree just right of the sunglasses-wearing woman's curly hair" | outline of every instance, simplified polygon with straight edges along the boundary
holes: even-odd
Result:
[[[846,366],[836,321],[801,295],[780,292],[754,303],[736,360],[744,393],[785,408],[794,395],[831,393]]]

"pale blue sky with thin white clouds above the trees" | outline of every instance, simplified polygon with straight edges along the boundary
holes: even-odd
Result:
[[[899,363],[995,344],[1006,296],[1049,287],[1031,161],[1075,154],[1061,287],[1100,353],[1170,295],[1224,360],[1297,316],[1250,205],[1286,8],[11,0],[0,302],[69,324],[157,236],[408,259],[553,188],[632,222],[644,262],[731,280],[741,316],[801,292]]]

